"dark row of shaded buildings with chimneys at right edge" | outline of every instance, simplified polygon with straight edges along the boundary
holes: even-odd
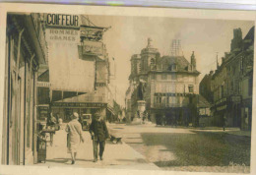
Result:
[[[252,117],[254,27],[242,38],[241,29],[233,30],[230,52],[212,78],[215,125],[250,130]]]

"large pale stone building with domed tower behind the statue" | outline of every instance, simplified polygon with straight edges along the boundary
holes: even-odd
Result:
[[[194,52],[190,63],[184,56],[160,57],[160,52],[148,39],[148,45],[141,54],[131,58],[130,87],[127,90],[127,105],[131,117],[136,115],[137,101],[146,101],[149,120],[170,125],[192,122],[196,105],[192,101],[199,93],[196,58]],[[143,87],[141,95],[140,87]],[[195,110],[193,111],[193,107]]]

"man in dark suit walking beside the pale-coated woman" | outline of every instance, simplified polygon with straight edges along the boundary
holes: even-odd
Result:
[[[90,126],[89,132],[92,136],[94,146],[94,162],[97,161],[97,154],[99,145],[99,158],[103,160],[103,152],[105,140],[109,137],[105,122],[100,118],[100,114],[96,112],[94,120]]]

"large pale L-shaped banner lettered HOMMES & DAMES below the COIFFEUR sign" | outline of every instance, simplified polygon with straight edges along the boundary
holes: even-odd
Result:
[[[93,91],[95,62],[79,59],[79,29],[46,29],[51,89]]]

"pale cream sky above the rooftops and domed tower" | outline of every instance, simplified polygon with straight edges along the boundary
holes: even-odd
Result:
[[[115,80],[116,100],[125,105],[125,91],[129,87],[130,59],[133,54],[140,54],[147,46],[148,37],[158,48],[160,55],[170,55],[172,39],[180,39],[181,49],[190,62],[192,51],[195,52],[197,70],[201,73],[199,80],[211,70],[216,70],[217,53],[219,63],[224,52],[230,51],[233,29],[240,28],[242,37],[254,25],[252,21],[205,20],[205,19],[173,19],[162,17],[120,17],[120,16],[88,16],[99,27],[111,27],[104,32],[103,42],[109,58],[114,58],[116,65]],[[113,60],[111,65],[113,65]],[[115,90],[115,89],[114,89]]]

